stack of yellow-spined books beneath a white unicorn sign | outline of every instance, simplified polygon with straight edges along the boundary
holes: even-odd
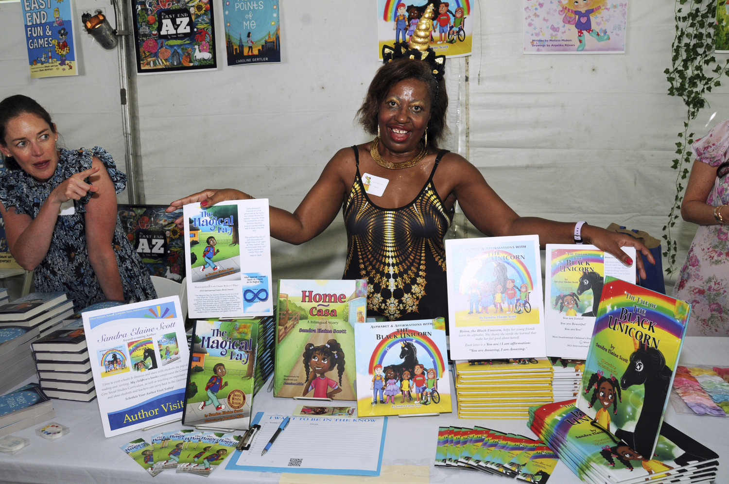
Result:
[[[553,402],[546,358],[456,361],[459,418],[526,418],[529,407]]]

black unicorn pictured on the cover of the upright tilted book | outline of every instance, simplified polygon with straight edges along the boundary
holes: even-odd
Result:
[[[652,456],[673,371],[666,366],[666,358],[658,348],[650,348],[636,339],[633,343],[635,351],[620,378],[620,388],[625,391],[634,385],[644,386],[643,406],[634,431],[617,429],[615,436],[642,456]]]

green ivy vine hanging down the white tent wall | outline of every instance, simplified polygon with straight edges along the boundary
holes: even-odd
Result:
[[[726,0],[719,0],[720,8],[724,8]],[[686,105],[684,129],[678,133],[676,154],[671,168],[677,170],[676,196],[668,222],[663,227],[663,239],[666,251],[663,256],[668,261],[666,273],[670,276],[677,272],[677,241],[671,229],[680,216],[683,200],[683,180],[689,174],[691,164],[691,144],[694,133],[689,133],[689,124],[696,119],[698,112],[708,105],[706,93],[712,87],[721,85],[722,75],[729,75],[729,60],[722,66],[714,57],[714,26],[717,12],[717,0],[676,0],[674,7],[676,20],[676,38],[671,44],[671,67],[666,69],[666,79],[670,84],[668,95],[677,95]]]

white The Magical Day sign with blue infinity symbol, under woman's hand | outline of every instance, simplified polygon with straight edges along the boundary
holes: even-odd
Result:
[[[273,315],[268,199],[182,211],[190,318]]]

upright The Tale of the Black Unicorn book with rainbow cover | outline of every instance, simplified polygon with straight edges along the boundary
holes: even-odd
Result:
[[[652,456],[690,305],[606,277],[577,407],[643,456]]]

